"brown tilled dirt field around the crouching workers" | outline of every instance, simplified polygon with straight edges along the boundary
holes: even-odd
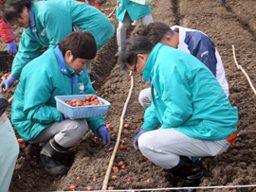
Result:
[[[114,8],[116,1],[101,0],[99,4],[101,9]],[[224,7],[218,0],[153,0],[151,8],[157,22],[198,29],[210,36],[225,66],[229,81],[229,101],[239,110],[238,128],[244,131],[225,153],[202,159],[202,166],[209,172],[209,177],[204,177],[200,186],[255,184],[256,96],[242,71],[235,66],[232,44],[235,47],[238,63],[243,66],[252,83],[256,85],[256,1],[227,0]],[[113,20],[113,25],[118,26],[117,20]],[[131,26],[128,36],[136,35],[140,28],[141,26]],[[20,35],[19,29],[15,30],[15,34]],[[101,48],[92,66],[96,74],[94,86],[98,96],[111,103],[105,116],[105,122],[111,124],[109,129],[112,135],[111,147],[116,145],[120,116],[131,86],[129,73],[120,71],[119,64],[114,58],[116,52],[115,34],[112,40]],[[126,169],[120,169],[117,173],[111,169],[110,176],[116,175],[118,179],[109,180],[107,183],[107,186],[113,186],[115,189],[126,191],[170,188],[177,186],[180,182],[172,174],[149,162],[133,148],[133,137],[143,123],[144,113],[137,101],[137,96],[141,89],[148,86],[149,84],[142,81],[141,77],[134,77],[133,93],[123,119],[124,123],[129,124],[130,127],[123,128],[120,137],[121,141],[124,137],[127,137],[127,140],[123,143],[124,149],[118,149],[113,165],[118,166],[119,161],[124,161]],[[11,96],[13,91],[14,88],[10,90],[8,96]],[[125,133],[124,130],[128,130],[129,133]],[[76,147],[63,157],[64,165],[70,166],[70,170],[59,178],[48,176],[44,171],[39,159],[39,145],[21,144],[10,191],[68,191],[70,184],[76,185],[77,191],[85,191],[87,186],[92,186],[94,190],[101,190],[113,151],[102,148],[98,142],[92,143],[93,138],[92,132],[88,132]],[[82,177],[79,181],[77,181],[78,176]],[[129,177],[133,179],[132,182],[127,182]],[[210,190],[256,191],[256,187],[215,187]],[[209,189],[198,189],[198,191],[209,191]]]

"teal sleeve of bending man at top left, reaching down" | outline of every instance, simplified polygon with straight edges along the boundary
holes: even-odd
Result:
[[[27,62],[38,57],[43,48],[43,46],[36,41],[36,37],[32,37],[32,35],[33,34],[29,34],[28,29],[24,29],[19,44],[19,51],[16,54],[11,66],[10,75],[16,79],[20,78],[21,71]]]

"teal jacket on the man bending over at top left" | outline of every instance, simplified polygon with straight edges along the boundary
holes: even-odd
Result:
[[[42,47],[60,43],[73,31],[73,25],[82,31],[89,31],[95,38],[98,50],[115,32],[114,26],[99,9],[71,0],[32,2],[29,16],[30,27],[24,29],[19,51],[12,62],[11,76],[16,79],[20,78],[27,62],[40,55]]]

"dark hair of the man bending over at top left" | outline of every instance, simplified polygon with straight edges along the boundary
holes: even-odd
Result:
[[[21,17],[24,7],[31,8],[31,0],[3,0],[1,5],[1,13],[3,20],[11,24],[17,18]]]

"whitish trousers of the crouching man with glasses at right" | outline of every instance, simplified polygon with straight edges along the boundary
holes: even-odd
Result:
[[[147,159],[156,166],[171,169],[177,166],[179,156],[215,156],[229,148],[229,142],[203,141],[175,131],[163,129],[147,131],[138,137],[138,147]]]

